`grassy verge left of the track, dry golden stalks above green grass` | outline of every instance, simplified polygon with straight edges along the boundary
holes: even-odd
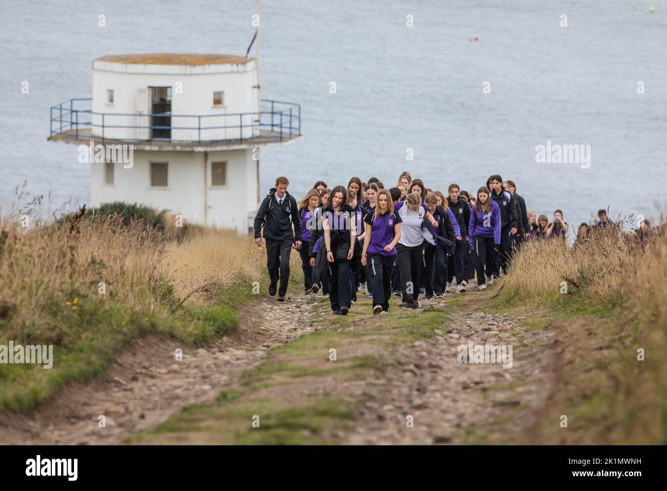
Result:
[[[28,230],[1,218],[0,411],[27,410],[66,383],[103,374],[141,335],[197,345],[228,334],[263,263],[251,239],[233,232],[169,240],[119,216]],[[10,341],[52,346],[53,366],[7,363]]]

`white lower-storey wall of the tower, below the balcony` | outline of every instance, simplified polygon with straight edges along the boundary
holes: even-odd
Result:
[[[114,184],[104,184],[104,164],[91,164],[90,206],[111,201],[148,204],[182,214],[185,222],[247,232],[257,211],[257,162],[252,150],[204,152],[137,151],[133,167],[114,164]],[[227,185],[211,186],[211,162],[227,162]],[[167,188],[152,188],[149,162],[168,162]],[[263,198],[263,195],[261,196]],[[206,206],[205,206],[206,202]],[[206,208],[206,212],[205,212]]]

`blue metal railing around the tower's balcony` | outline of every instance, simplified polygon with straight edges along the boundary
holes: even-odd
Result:
[[[51,136],[57,134],[78,140],[79,136],[82,136],[82,130],[90,128],[92,136],[102,140],[213,143],[233,140],[242,142],[258,138],[283,141],[301,134],[301,105],[295,102],[262,99],[259,114],[245,112],[201,115],[99,113],[93,112],[91,104],[92,98],[77,98],[51,107]],[[258,115],[259,120],[257,120]],[[165,124],[167,118],[169,118],[168,126]],[[217,123],[215,118],[222,119],[225,124]],[[174,126],[175,120],[186,122],[179,124],[187,122],[192,124]],[[231,124],[227,124],[229,122]],[[153,130],[158,130],[158,133],[159,130],[163,130],[162,133],[169,130],[169,138],[155,137]],[[137,137],[139,132],[145,132],[145,138]],[[174,134],[177,137],[187,138],[171,138]],[[90,136],[86,134],[85,138]]]

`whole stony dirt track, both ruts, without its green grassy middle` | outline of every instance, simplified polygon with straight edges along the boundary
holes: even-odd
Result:
[[[466,295],[488,299],[491,293]],[[336,338],[338,332],[359,331],[360,337],[348,335],[346,339],[354,341],[348,341],[352,344],[342,352],[348,358],[381,360],[382,368],[368,368],[364,377],[353,380],[344,371],[282,377],[280,383],[287,380],[287,385],[269,383],[250,399],[279,396],[293,407],[299,404],[299,397],[314,401],[333,395],[352,401],[354,422],[330,432],[333,440],[343,444],[530,442],[531,428],[540,424],[536,419],[553,387],[554,329],[530,329],[520,317],[470,311],[432,300],[422,301],[418,310],[392,307],[392,318],[398,322],[414,318],[406,323],[414,325],[420,312],[445,307],[442,314],[433,311],[438,319],[434,337],[382,343],[377,341],[402,328],[394,326],[393,334],[383,331],[384,316],[364,311],[370,313],[370,305],[367,299],[360,299],[353,308],[356,317],[351,319],[352,314],[348,318],[330,316],[327,305],[317,309],[312,299],[288,298],[282,304],[261,297],[245,308],[233,337],[206,349],[183,347],[182,361],[174,358],[174,350],[181,347],[175,339],[141,339],[117,357],[103,379],[69,385],[35,412],[0,415],[0,442],[121,443],[137,432],[155,428],[185,406],[214,401],[221,389],[238,385],[244,371],[269,359],[275,363],[275,353],[273,358],[267,353],[271,347],[322,330],[333,336],[326,341],[333,345],[342,341]],[[502,363],[459,363],[458,347],[470,341],[474,345],[512,345],[512,368],[504,369]],[[290,369],[298,365],[310,373],[331,366],[319,349],[296,353],[281,355],[278,361],[288,365],[273,366]],[[247,399],[239,399],[239,403],[244,401]],[[105,428],[98,426],[100,415],[106,418]],[[157,438],[155,443],[196,443],[202,438],[201,442],[208,443],[214,437],[197,430],[179,431],[171,440]]]

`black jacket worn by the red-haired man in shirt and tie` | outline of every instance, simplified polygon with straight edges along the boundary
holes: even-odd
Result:
[[[275,188],[269,190],[255,216],[255,238],[260,236],[264,226],[264,238],[268,240],[301,240],[301,218],[297,210],[296,199],[285,191],[283,204],[275,200]],[[292,232],[292,225],[294,231]]]

